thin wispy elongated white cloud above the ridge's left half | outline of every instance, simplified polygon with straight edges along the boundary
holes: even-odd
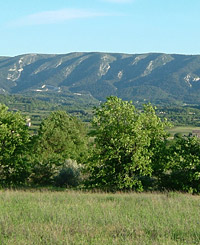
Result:
[[[108,13],[87,11],[83,9],[61,9],[27,15],[25,17],[22,17],[21,19],[9,23],[9,26],[56,24],[71,19],[92,18],[108,15]]]

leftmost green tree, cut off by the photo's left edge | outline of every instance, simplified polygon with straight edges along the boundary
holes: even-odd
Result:
[[[8,111],[0,104],[0,183],[18,185],[30,173],[27,161],[29,144],[26,120],[20,113]]]

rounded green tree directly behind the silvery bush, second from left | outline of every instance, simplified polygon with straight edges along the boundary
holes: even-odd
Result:
[[[32,179],[50,183],[65,160],[82,163],[86,153],[86,129],[82,122],[64,111],[52,112],[34,137]]]

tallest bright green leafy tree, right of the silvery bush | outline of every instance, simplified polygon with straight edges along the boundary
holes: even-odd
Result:
[[[109,97],[96,108],[93,119],[90,186],[142,190],[141,177],[158,167],[152,159],[158,157],[167,137],[165,126],[151,105],[139,112],[131,102]]]

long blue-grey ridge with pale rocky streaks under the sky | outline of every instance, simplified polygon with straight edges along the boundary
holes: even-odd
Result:
[[[0,57],[0,93],[200,104],[200,55],[69,53]]]

